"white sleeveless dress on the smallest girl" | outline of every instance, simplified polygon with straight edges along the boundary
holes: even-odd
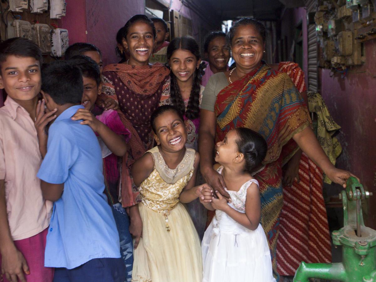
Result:
[[[223,167],[218,169],[221,173]],[[248,180],[230,194],[230,207],[245,213]],[[223,211],[216,210],[202,240],[203,282],[275,282],[270,250],[261,224],[247,229]]]

